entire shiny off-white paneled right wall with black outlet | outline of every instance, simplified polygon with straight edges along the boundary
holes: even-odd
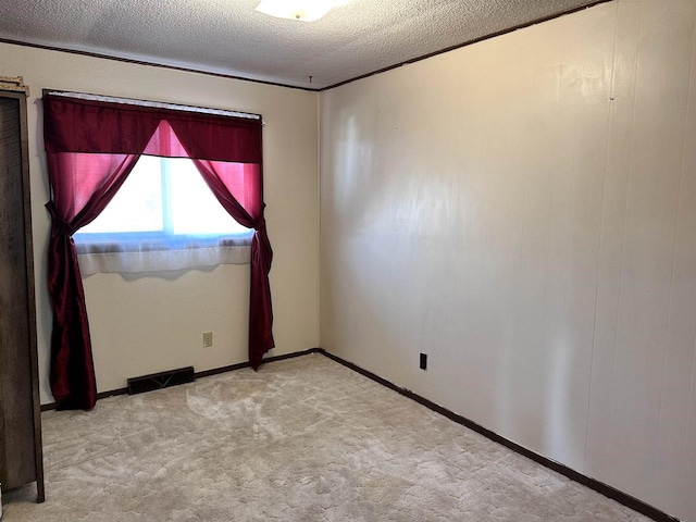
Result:
[[[689,521],[695,21],[619,0],[320,102],[321,345]]]

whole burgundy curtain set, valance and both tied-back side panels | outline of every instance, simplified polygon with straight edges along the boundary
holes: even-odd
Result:
[[[191,158],[221,204],[256,231],[251,244],[249,361],[273,348],[269,272],[273,252],[263,217],[261,121],[44,96],[51,201],[49,291],[53,308],[51,390],[60,409],[91,409],[97,398],[89,322],[72,235],[111,201],[139,154]]]

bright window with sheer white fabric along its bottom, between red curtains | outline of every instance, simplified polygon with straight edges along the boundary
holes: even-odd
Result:
[[[248,262],[252,233],[222,208],[190,159],[141,156],[104,210],[73,237],[88,275],[178,270],[182,259]]]

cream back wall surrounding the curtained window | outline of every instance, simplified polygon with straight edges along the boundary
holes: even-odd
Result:
[[[274,250],[271,291],[276,348],[270,356],[319,345],[319,195],[316,95],[0,44],[0,75],[24,76],[29,98],[29,163],[37,279],[41,401],[51,399],[51,312],[46,288],[48,181],[41,137],[41,89],[78,90],[261,113],[266,222]],[[196,371],[247,358],[249,266],[225,265],[170,278],[87,277],[99,391],[126,378],[194,365]],[[214,346],[202,347],[212,331]]]

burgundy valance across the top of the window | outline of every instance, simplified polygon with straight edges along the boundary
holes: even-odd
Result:
[[[44,96],[47,152],[160,156],[148,144],[166,121],[185,144],[170,158],[261,163],[260,120],[150,105]]]

